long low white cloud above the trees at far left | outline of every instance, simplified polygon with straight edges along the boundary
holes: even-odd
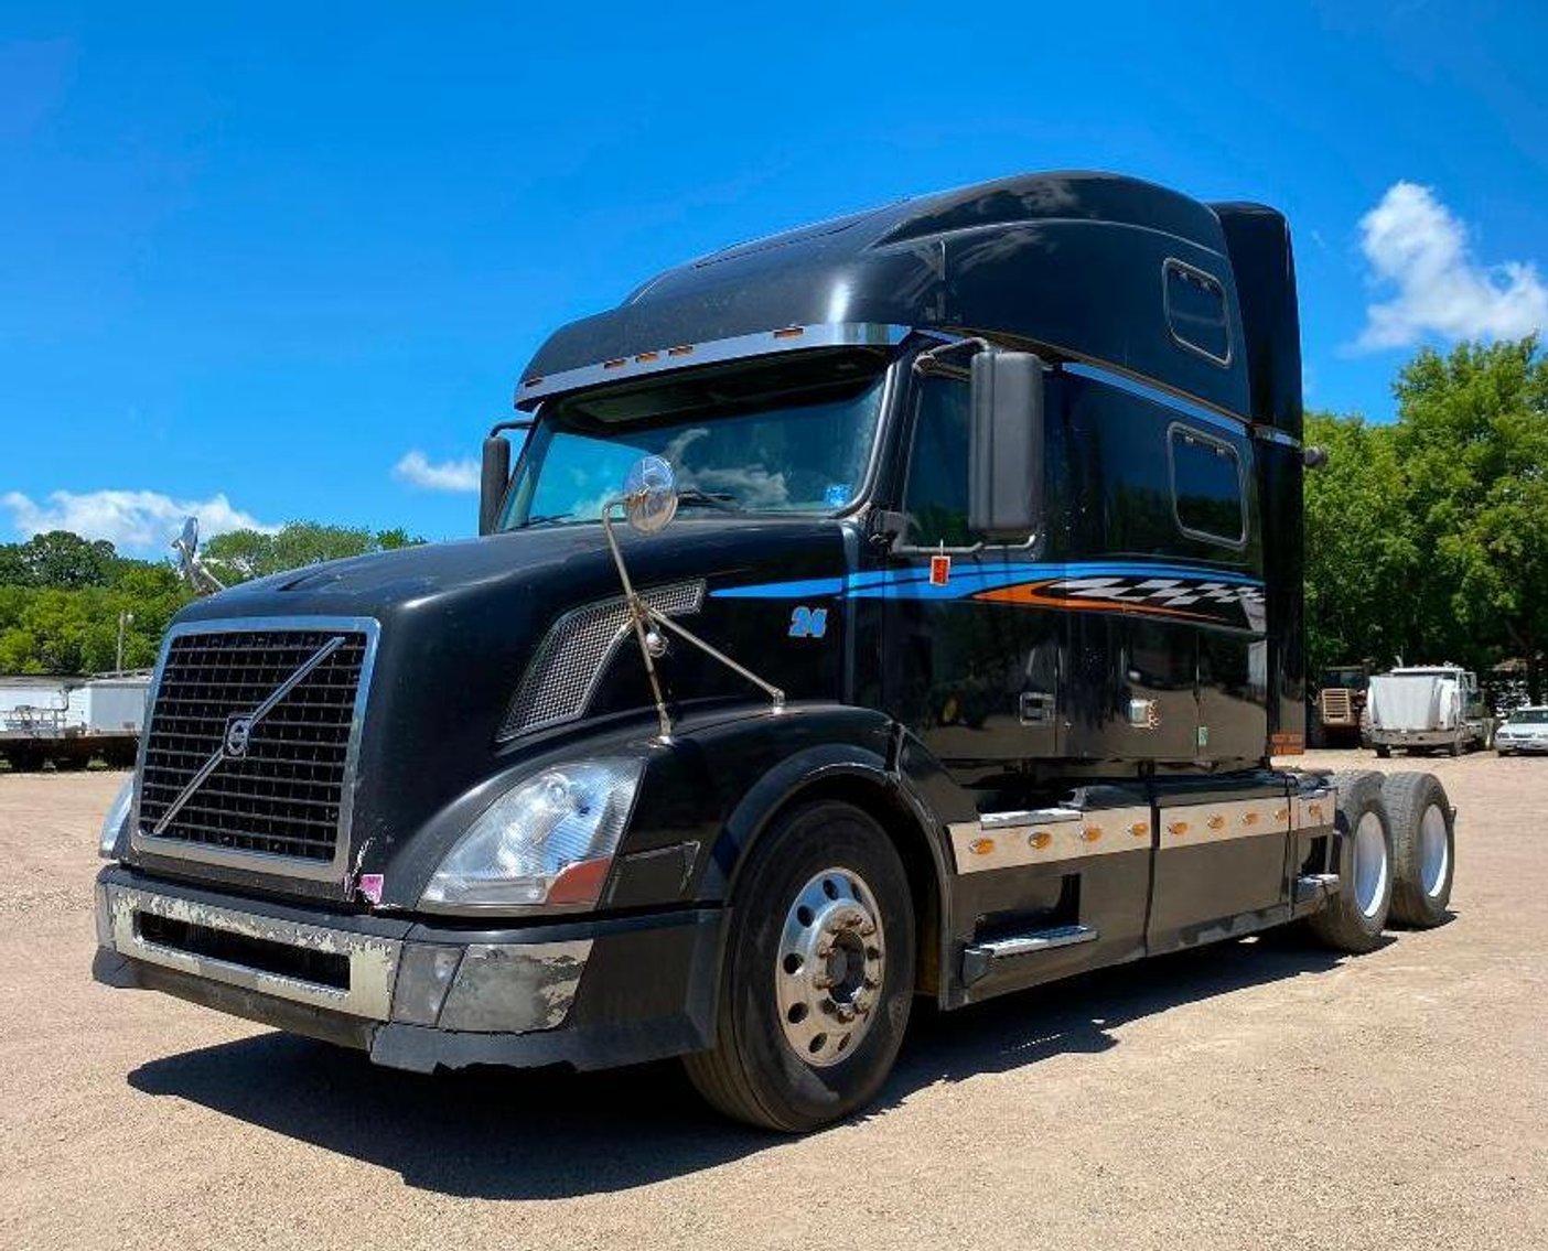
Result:
[[[85,539],[107,539],[119,551],[153,554],[166,550],[190,514],[198,517],[201,537],[228,530],[262,530],[266,534],[279,530],[232,508],[224,495],[175,500],[159,491],[54,491],[37,503],[20,491],[9,491],[0,495],[0,508],[9,509],[11,525],[23,539],[50,530],[70,530]]]

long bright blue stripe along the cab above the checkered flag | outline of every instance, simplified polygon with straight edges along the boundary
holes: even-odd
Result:
[[[808,599],[834,596],[839,599],[963,599],[978,591],[1014,587],[1019,582],[1070,578],[1194,578],[1237,587],[1262,587],[1259,578],[1204,565],[1180,565],[1136,560],[1074,560],[1040,564],[1031,560],[995,560],[961,564],[952,568],[950,582],[930,585],[927,567],[872,570],[847,578],[811,578],[796,582],[754,582],[746,587],[721,587],[711,591],[714,599]]]

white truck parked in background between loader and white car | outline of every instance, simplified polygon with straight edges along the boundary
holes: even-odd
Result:
[[[1457,664],[1406,666],[1370,680],[1364,737],[1382,759],[1393,748],[1461,756],[1494,746],[1494,718],[1477,673]]]

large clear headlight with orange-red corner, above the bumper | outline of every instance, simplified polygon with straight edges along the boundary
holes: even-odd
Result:
[[[639,788],[642,760],[577,760],[489,805],[435,870],[430,909],[594,904]]]

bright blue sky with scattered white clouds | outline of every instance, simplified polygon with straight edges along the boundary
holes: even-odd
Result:
[[[1542,5],[437,9],[0,3],[0,540],[466,534],[553,327],[1017,170],[1283,209],[1319,407],[1548,322]]]

